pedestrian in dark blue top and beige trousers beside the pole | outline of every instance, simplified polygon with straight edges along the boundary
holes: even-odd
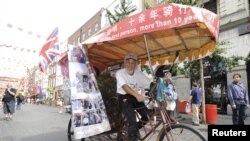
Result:
[[[196,82],[193,82],[192,84],[192,90],[191,95],[189,98],[189,103],[192,105],[193,110],[193,125],[199,126],[200,125],[200,119],[199,119],[199,108],[201,106],[201,90],[198,87],[198,84]]]

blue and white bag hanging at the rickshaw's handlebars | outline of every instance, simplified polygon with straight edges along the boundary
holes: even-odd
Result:
[[[156,99],[160,102],[163,100],[173,101],[177,99],[174,86],[172,84],[166,84],[163,78],[158,79],[156,90]]]

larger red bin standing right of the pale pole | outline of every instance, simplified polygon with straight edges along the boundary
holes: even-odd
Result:
[[[206,104],[206,120],[208,124],[217,123],[217,105],[216,104]]]

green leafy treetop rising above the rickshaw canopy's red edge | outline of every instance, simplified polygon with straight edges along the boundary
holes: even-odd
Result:
[[[126,0],[120,0],[120,7],[118,10],[115,9],[114,14],[108,9],[106,9],[109,24],[113,25],[121,21],[122,19],[127,18],[136,9],[137,9],[136,6],[129,5]]]

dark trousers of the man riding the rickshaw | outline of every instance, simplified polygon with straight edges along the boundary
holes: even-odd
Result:
[[[148,121],[148,109],[143,102],[138,102],[135,97],[126,94],[118,96],[122,112],[128,121],[128,136],[130,141],[136,140],[138,124],[135,110],[140,114],[142,121]]]

